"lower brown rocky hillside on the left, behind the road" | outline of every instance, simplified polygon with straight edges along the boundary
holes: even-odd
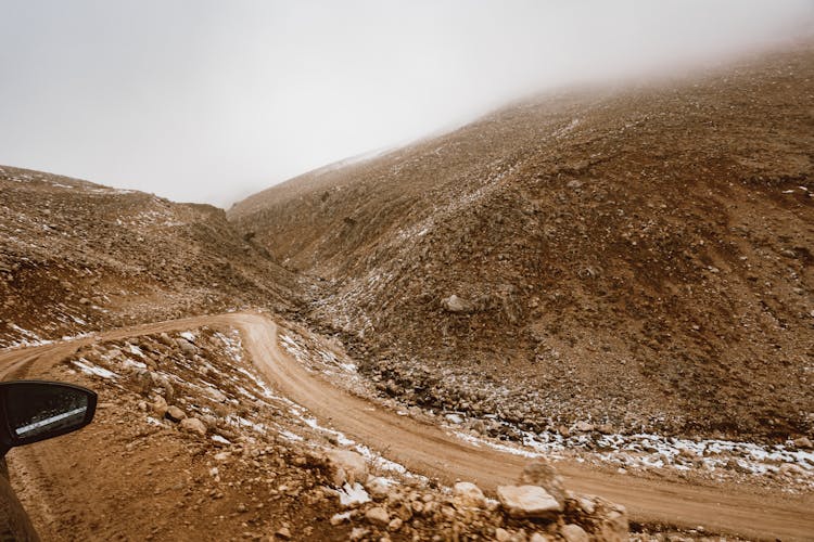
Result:
[[[242,305],[294,282],[221,209],[0,167],[0,347]]]

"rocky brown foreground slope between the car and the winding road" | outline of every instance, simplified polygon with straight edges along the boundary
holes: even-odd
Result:
[[[48,520],[26,502],[49,540],[626,538],[624,508],[571,494],[545,460],[487,499],[467,482],[438,487],[321,427],[256,375],[232,330],[93,344],[46,376],[100,393],[97,421],[73,443],[81,463],[66,450],[58,469],[68,480],[46,482],[58,502],[76,501],[75,512],[51,509]],[[36,461],[14,456],[12,468],[25,474]],[[18,487],[24,501],[39,490]],[[82,509],[87,492],[112,498]],[[135,530],[110,521],[135,514],[147,518]]]

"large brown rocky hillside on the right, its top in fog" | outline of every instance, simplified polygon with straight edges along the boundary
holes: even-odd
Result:
[[[814,47],[513,104],[228,217],[382,393],[534,430],[814,431]],[[577,424],[581,422],[581,424]]]

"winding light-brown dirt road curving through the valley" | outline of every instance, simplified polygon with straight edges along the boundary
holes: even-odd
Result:
[[[72,354],[80,346],[149,333],[181,331],[202,325],[238,327],[255,365],[281,395],[307,408],[330,425],[408,469],[450,483],[471,480],[486,490],[513,481],[523,457],[474,447],[434,425],[399,416],[339,389],[306,371],[278,346],[277,326],[257,313],[198,317],[100,333],[71,341],[0,353],[0,378],[36,377],[42,369]],[[624,504],[632,519],[683,527],[702,525],[708,531],[758,539],[814,540],[814,498],[780,493],[734,493],[629,475],[610,475],[588,467],[559,464],[569,488]]]

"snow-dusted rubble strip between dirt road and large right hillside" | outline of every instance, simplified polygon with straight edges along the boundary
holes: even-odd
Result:
[[[681,478],[699,483],[736,482],[778,488],[797,494],[814,491],[814,446],[807,438],[765,446],[715,439],[681,439],[653,434],[620,435],[607,425],[578,422],[539,433],[501,422],[496,413],[470,417],[460,410],[409,405],[366,380],[336,339],[326,340],[289,323],[281,345],[311,371],[340,387],[419,421],[440,424],[467,442],[529,457],[585,462],[638,476]],[[379,382],[377,382],[379,380]]]

